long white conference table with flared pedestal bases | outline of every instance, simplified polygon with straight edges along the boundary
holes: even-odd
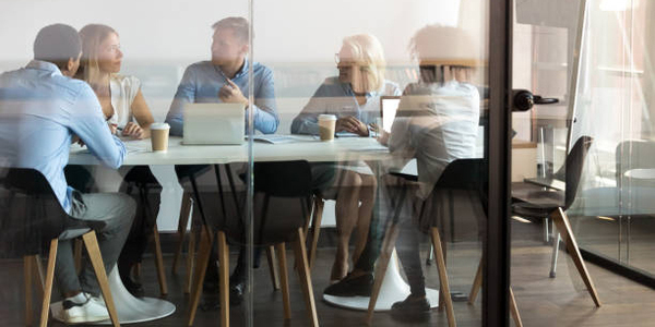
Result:
[[[293,135],[272,138],[274,143],[254,141],[252,143],[253,161],[287,161],[307,160],[310,162],[389,162],[392,156],[386,147],[372,137],[343,137],[332,142],[321,142],[315,136]],[[156,166],[172,165],[224,165],[249,161],[249,144],[241,145],[183,145],[181,137],[171,136],[166,152],[152,152],[150,140],[126,141],[128,154],[123,166],[147,165],[151,169]],[[99,165],[99,160],[91,152],[76,144],[71,146],[69,165]],[[371,165],[376,166],[376,165]],[[361,168],[361,167],[360,167]],[[367,167],[368,168],[368,167]],[[362,168],[364,171],[367,169]],[[170,170],[172,173],[172,169]],[[370,173],[372,170],[368,169]],[[162,183],[164,189],[166,185]],[[163,194],[166,190],[163,190]],[[180,198],[181,199],[181,198]],[[177,213],[172,213],[177,214]],[[395,301],[402,301],[409,294],[409,287],[402,279],[396,261],[390,261],[388,277],[378,299],[376,310],[390,310]],[[109,284],[116,302],[119,319],[122,324],[154,320],[171,315],[176,307],[172,303],[153,298],[134,298],[123,287],[118,269],[109,274]],[[430,295],[438,294],[428,290]],[[431,303],[439,301],[430,296]],[[324,295],[323,299],[337,306],[356,310],[368,307],[368,298],[340,298]],[[53,316],[60,303],[53,304]],[[109,322],[103,322],[108,324]]]

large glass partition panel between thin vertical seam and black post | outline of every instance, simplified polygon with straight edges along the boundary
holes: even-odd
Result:
[[[263,247],[279,290],[264,250],[252,270],[253,324],[479,325],[485,1],[252,5],[279,119],[251,129],[253,237],[286,240]]]

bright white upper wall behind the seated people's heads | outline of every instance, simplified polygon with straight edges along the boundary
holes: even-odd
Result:
[[[477,2],[477,0],[474,0]],[[129,59],[201,59],[209,56],[210,25],[248,15],[247,1],[24,0],[3,1],[0,60],[26,60],[38,29],[63,22],[81,28],[105,23],[121,35]],[[430,23],[455,25],[455,0],[254,1],[255,49],[262,61],[332,61],[341,39],[372,33],[392,60],[407,58],[407,40]]]

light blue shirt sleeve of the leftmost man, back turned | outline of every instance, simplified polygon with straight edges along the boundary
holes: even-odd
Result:
[[[69,128],[72,133],[86,144],[100,162],[114,169],[119,168],[127,154],[126,146],[109,132],[103,108],[88,85],[82,87],[70,113]]]

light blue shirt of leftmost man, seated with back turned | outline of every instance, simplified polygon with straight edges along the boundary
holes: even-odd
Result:
[[[122,165],[126,147],[109,132],[88,84],[36,60],[0,75],[0,166],[40,171],[67,213],[72,187],[63,168],[73,135],[106,166]]]

